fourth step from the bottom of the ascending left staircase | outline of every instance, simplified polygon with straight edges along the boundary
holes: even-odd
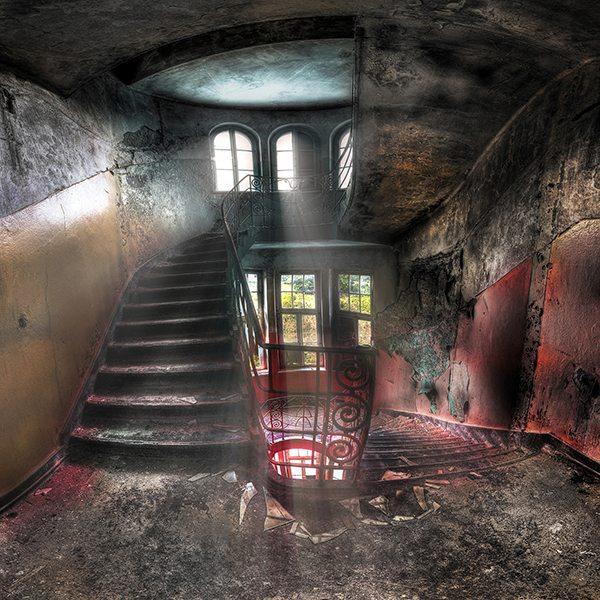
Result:
[[[138,340],[112,342],[106,352],[106,363],[129,362],[145,364],[154,361],[179,361],[186,359],[228,358],[232,354],[231,338],[228,336],[188,337],[164,340]]]

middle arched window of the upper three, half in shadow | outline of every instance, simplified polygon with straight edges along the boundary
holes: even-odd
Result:
[[[275,138],[273,173],[278,190],[312,189],[318,175],[318,144],[301,129],[288,129]]]

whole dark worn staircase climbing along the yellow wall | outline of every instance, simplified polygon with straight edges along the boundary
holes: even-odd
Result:
[[[186,242],[130,284],[89,383],[75,447],[239,456],[250,447],[220,235]]]

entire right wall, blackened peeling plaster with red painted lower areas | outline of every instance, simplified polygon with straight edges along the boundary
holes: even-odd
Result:
[[[600,219],[599,90],[600,61],[548,84],[457,193],[400,238],[400,291],[375,329],[401,374],[387,406],[550,432],[598,457],[600,366],[597,344],[586,343],[600,298],[589,283],[598,242],[577,232]],[[557,352],[566,353],[560,368],[549,359]]]

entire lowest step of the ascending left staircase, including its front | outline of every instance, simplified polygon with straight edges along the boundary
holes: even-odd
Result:
[[[81,425],[73,431],[76,444],[91,444],[117,451],[148,450],[150,452],[227,452],[236,448],[248,450],[249,433],[240,427],[228,431],[197,422],[189,417],[181,420],[105,420],[96,427]]]

